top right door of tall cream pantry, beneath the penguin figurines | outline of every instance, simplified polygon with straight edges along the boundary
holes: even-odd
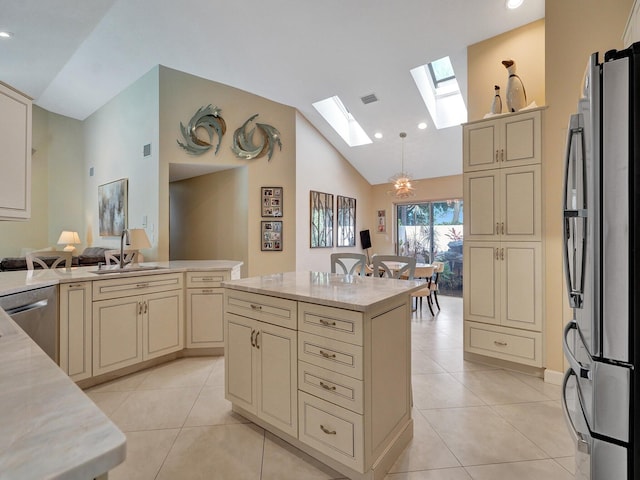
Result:
[[[502,167],[531,165],[542,159],[540,111],[503,117],[499,157]]]

